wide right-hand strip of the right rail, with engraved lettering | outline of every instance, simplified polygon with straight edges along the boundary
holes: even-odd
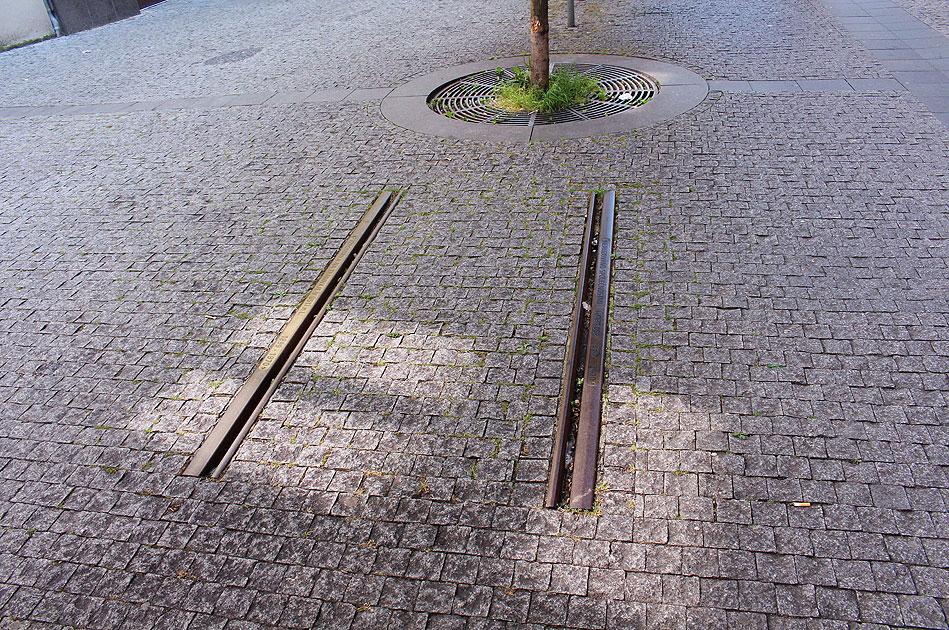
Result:
[[[603,404],[603,373],[610,307],[615,205],[616,194],[609,190],[603,195],[603,209],[600,213],[596,274],[593,278],[593,298],[590,304],[587,352],[583,369],[583,390],[580,395],[580,416],[577,422],[577,445],[570,486],[570,507],[580,510],[589,510],[593,507],[593,491],[596,485],[596,460],[600,445],[600,408]]]

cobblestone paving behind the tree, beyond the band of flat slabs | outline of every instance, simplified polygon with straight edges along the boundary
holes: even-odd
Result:
[[[887,76],[809,0],[576,4],[582,28],[555,26],[560,50],[667,57],[708,78]],[[124,22],[4,53],[0,105],[395,86],[444,66],[525,52],[522,5],[164,2]],[[561,0],[555,15],[562,9]],[[564,24],[562,15],[556,22]]]

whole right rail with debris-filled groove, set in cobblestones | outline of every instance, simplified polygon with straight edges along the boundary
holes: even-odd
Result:
[[[581,254],[582,268],[571,336],[567,342],[564,381],[561,387],[554,448],[551,454],[550,476],[545,500],[547,507],[557,507],[560,504],[568,468],[568,442],[571,431],[575,432],[576,440],[569,505],[571,508],[587,510],[593,507],[600,442],[600,414],[603,404],[615,206],[616,195],[611,190],[602,195],[590,196]],[[596,264],[592,267],[593,273],[590,274],[590,261],[594,255]],[[591,282],[593,283],[592,292]],[[590,301],[587,304],[588,295]],[[581,353],[583,354],[582,364],[579,360]],[[577,409],[574,395],[581,371],[583,386],[580,390]]]

